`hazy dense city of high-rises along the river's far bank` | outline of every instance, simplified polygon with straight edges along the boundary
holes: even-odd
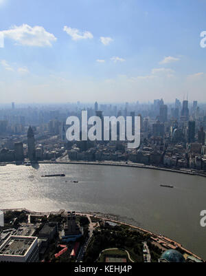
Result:
[[[66,138],[68,116],[140,116],[141,145],[128,149],[126,141],[73,141]],[[197,101],[163,99],[141,104],[67,104],[22,107],[12,103],[0,111],[1,162],[113,161],[170,169],[206,171],[206,107]],[[118,125],[117,125],[118,126]],[[118,128],[117,128],[118,134]],[[28,145],[28,147],[27,147]]]

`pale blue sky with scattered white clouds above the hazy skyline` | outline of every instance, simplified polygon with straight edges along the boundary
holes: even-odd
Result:
[[[206,102],[206,0],[0,0],[1,103]]]

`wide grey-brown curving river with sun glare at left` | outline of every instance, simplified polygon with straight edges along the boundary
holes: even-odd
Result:
[[[65,178],[42,178],[65,173]],[[69,181],[78,180],[78,183]],[[160,187],[173,185],[174,189]],[[166,235],[206,259],[206,178],[132,167],[40,164],[0,167],[0,209],[91,211]]]

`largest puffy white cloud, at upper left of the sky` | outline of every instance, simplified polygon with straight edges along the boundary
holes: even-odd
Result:
[[[26,46],[52,46],[52,42],[56,41],[54,34],[50,34],[41,26],[23,24],[21,26],[14,25],[10,30],[0,32],[4,38],[12,39],[19,45]]]

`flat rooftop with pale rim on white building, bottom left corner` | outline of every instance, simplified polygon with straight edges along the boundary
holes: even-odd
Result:
[[[24,256],[37,237],[10,236],[0,247],[0,255]]]

